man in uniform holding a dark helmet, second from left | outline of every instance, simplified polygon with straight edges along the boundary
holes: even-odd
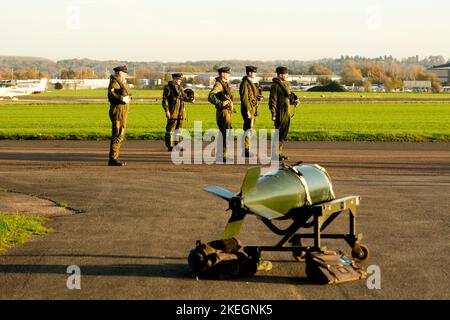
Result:
[[[172,151],[180,142],[181,135],[175,137],[174,132],[183,128],[183,122],[186,120],[184,103],[189,100],[181,87],[182,79],[182,73],[173,73],[172,81],[169,81],[163,89],[162,106],[167,119],[165,143],[168,151]]]

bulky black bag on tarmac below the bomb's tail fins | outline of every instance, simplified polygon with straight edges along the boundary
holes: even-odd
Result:
[[[194,277],[202,279],[231,279],[253,276],[256,273],[258,253],[245,252],[235,238],[215,240],[207,244],[197,240],[188,257]]]

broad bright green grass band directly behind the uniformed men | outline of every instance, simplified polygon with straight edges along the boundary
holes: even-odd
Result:
[[[236,104],[239,110],[239,104]],[[106,103],[0,103],[0,139],[107,139]],[[186,127],[203,121],[216,128],[215,109],[207,103],[188,105]],[[259,108],[256,129],[273,123],[267,103]],[[233,127],[242,118],[233,115]],[[165,117],[160,103],[133,103],[128,139],[163,139]],[[292,119],[291,140],[450,141],[450,102],[304,103]]]

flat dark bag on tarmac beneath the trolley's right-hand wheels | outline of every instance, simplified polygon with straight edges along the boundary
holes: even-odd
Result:
[[[340,251],[310,252],[306,255],[306,275],[320,284],[338,284],[367,278],[364,268]]]

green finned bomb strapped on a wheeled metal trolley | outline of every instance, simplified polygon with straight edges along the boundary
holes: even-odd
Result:
[[[356,195],[336,198],[330,176],[317,164],[283,164],[262,176],[260,167],[252,167],[238,193],[217,186],[204,190],[228,202],[231,217],[224,239],[238,236],[244,218],[249,214],[259,217],[270,231],[281,237],[275,245],[247,246],[247,251],[285,251],[302,260],[308,253],[326,250],[322,239],[342,239],[351,247],[356,261],[368,258],[369,250],[361,244],[362,234],[356,233],[357,207],[361,198]],[[329,225],[344,214],[348,214],[347,232],[326,232]],[[282,229],[275,224],[279,220],[289,220],[290,224]],[[303,239],[313,239],[313,244],[306,246]]]

